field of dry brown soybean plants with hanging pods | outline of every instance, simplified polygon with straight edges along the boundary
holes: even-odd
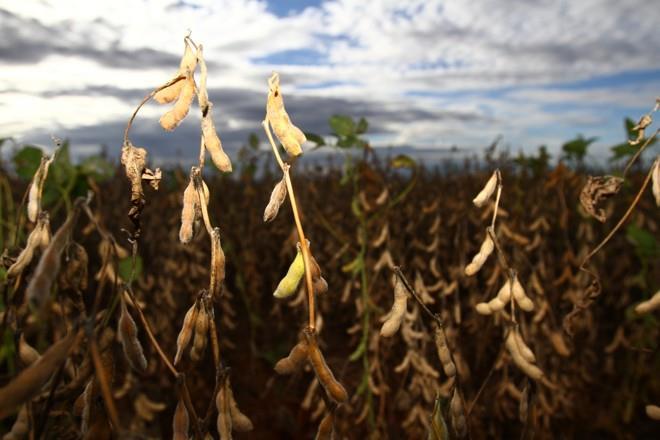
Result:
[[[431,172],[342,119],[306,169],[274,74],[275,170],[231,175],[188,40],[151,97],[197,97],[191,170],[129,122],[112,177],[2,171],[4,438],[658,438],[658,160]]]

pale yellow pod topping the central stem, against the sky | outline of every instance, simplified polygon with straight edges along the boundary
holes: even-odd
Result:
[[[291,123],[289,115],[284,109],[284,100],[280,91],[280,76],[277,73],[273,73],[268,80],[266,118],[286,152],[293,157],[302,154],[301,144],[307,138],[298,127]]]

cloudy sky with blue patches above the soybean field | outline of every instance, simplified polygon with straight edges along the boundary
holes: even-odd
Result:
[[[245,1],[0,0],[0,137],[78,156],[120,150],[123,128],[171,78],[183,37],[204,45],[214,119],[234,156],[265,142],[267,79],[280,74],[293,122],[327,134],[336,113],[370,123],[375,147],[423,157],[513,153],[597,137],[625,139],[623,118],[660,96],[660,8],[641,0]],[[147,105],[135,144],[156,162],[192,162],[199,116],[174,133]]]

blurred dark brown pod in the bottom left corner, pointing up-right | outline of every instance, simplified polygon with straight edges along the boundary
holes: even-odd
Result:
[[[51,375],[64,363],[78,340],[77,331],[55,342],[38,361],[21,371],[11,382],[0,388],[0,419],[23,402],[32,399]]]

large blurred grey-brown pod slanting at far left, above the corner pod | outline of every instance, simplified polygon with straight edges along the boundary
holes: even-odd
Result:
[[[41,255],[39,264],[37,264],[37,268],[34,271],[34,276],[30,279],[30,283],[27,286],[27,300],[37,309],[41,309],[46,303],[46,300],[50,295],[53,281],[55,281],[55,278],[60,272],[60,257],[64,250],[64,246],[69,240],[73,225],[78,218],[80,203],[81,201],[78,199],[73,210],[69,213],[62,226],[60,226],[53,236],[50,244]]]

